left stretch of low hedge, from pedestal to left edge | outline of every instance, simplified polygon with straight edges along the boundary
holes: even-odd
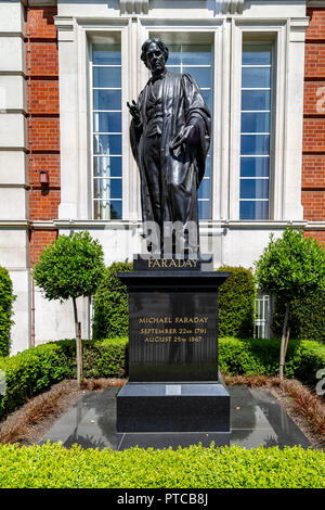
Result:
[[[128,364],[128,340],[84,341],[86,378],[122,378]],[[5,395],[0,395],[0,417],[24,404],[27,398],[63,379],[76,378],[76,342],[66,340],[39,345],[12,357],[0,358],[5,372]]]

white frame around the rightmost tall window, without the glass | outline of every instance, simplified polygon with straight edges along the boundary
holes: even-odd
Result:
[[[231,141],[230,141],[230,220],[270,221],[283,219],[284,190],[283,179],[285,171],[285,110],[287,82],[285,69],[287,63],[286,23],[280,22],[273,25],[265,21],[233,20],[232,40],[232,76],[231,84]],[[242,128],[242,59],[244,42],[268,42],[273,44],[273,105],[271,107],[271,139],[270,139],[270,183],[269,183],[269,218],[268,219],[240,219],[240,128]],[[275,171],[276,169],[276,171]]]

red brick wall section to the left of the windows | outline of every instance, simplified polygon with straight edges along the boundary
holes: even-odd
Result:
[[[60,104],[58,49],[54,26],[55,7],[26,9],[26,69],[28,106],[29,217],[57,218],[60,204]],[[40,170],[49,175],[48,193],[42,193]],[[55,239],[53,230],[31,233],[30,260]]]

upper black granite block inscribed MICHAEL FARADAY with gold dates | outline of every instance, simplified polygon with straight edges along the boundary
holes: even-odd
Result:
[[[129,291],[130,382],[218,381],[218,289],[229,273],[118,277]]]

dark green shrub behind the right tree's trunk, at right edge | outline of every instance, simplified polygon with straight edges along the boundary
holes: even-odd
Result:
[[[272,331],[276,336],[282,332],[284,315],[285,303],[278,297],[272,317]],[[325,293],[314,292],[295,299],[290,305],[289,326],[292,339],[325,342]]]

